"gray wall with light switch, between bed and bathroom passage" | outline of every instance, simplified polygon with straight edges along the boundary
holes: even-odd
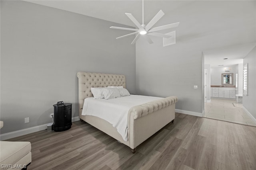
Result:
[[[255,1],[193,1],[165,15],[155,26],[179,21],[176,44],[163,47],[159,37],[152,37],[154,44],[138,39],[137,93],[175,95],[179,98],[176,109],[202,113],[202,51],[255,42],[255,6]]]

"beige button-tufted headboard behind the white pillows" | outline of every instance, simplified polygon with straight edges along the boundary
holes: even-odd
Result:
[[[91,87],[123,86],[126,88],[125,76],[121,74],[103,74],[78,72],[78,106],[79,117],[82,114],[84,99],[93,97]]]

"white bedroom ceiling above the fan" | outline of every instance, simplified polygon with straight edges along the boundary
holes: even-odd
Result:
[[[50,6],[61,10],[74,12],[102,20],[121,23],[134,27],[134,23],[124,13],[132,14],[142,23],[142,0],[24,0],[35,4]],[[149,2],[150,1],[150,2]],[[164,1],[171,0],[144,0],[144,23],[148,23],[159,10],[165,14],[172,12],[191,1],[171,1],[166,6]],[[169,24],[169,23],[166,23]]]

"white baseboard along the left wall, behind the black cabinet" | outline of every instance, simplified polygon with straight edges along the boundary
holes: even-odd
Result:
[[[78,121],[78,120],[80,120],[79,116],[72,117],[72,122]],[[47,129],[47,123],[44,124],[44,125],[29,127],[29,128],[21,129],[21,130],[18,130],[18,131],[1,134],[0,135],[0,140],[3,141],[3,140],[6,140],[6,139],[11,139],[11,138],[19,137],[19,136],[22,136],[22,135],[27,135],[29,133],[34,133],[34,132],[42,131],[42,130],[45,130],[45,129]]]

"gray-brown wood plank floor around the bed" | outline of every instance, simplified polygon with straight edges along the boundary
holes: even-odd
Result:
[[[256,169],[256,127],[181,113],[135,154],[81,121],[68,131],[39,131],[8,141],[31,142],[28,170]]]

